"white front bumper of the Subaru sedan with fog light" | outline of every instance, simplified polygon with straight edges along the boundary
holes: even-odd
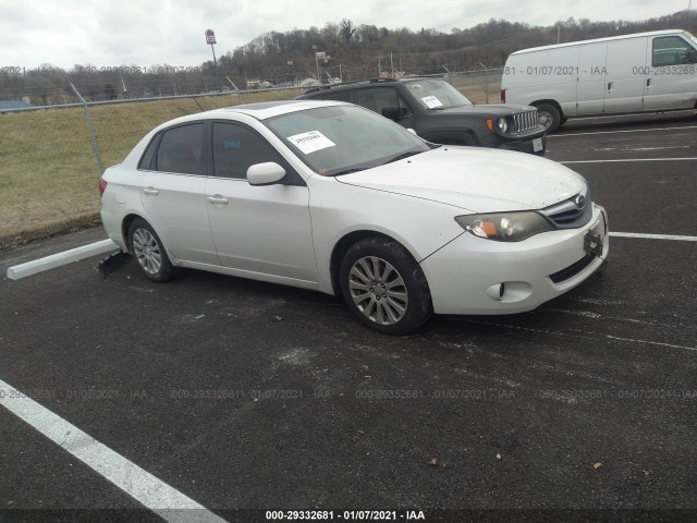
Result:
[[[587,253],[589,232],[601,236],[602,255]],[[465,232],[420,265],[435,313],[514,314],[582,283],[603,264],[609,248],[607,212],[594,204],[591,220],[580,229],[522,242],[496,242]]]

